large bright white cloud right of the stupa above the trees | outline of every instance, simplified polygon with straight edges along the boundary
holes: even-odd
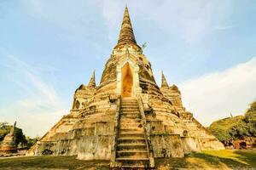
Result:
[[[181,85],[183,105],[203,125],[241,115],[256,99],[256,57],[230,69],[193,78]]]

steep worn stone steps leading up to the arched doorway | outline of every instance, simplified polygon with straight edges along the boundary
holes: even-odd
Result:
[[[122,169],[147,168],[148,146],[137,99],[123,98],[120,106],[116,165]]]

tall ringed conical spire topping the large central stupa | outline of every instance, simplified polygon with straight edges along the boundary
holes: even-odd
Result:
[[[116,47],[120,45],[125,45],[125,44],[134,44],[138,47],[133,34],[131,19],[130,19],[127,5],[125,5],[125,14],[124,14],[121,30],[119,33],[119,40]]]

